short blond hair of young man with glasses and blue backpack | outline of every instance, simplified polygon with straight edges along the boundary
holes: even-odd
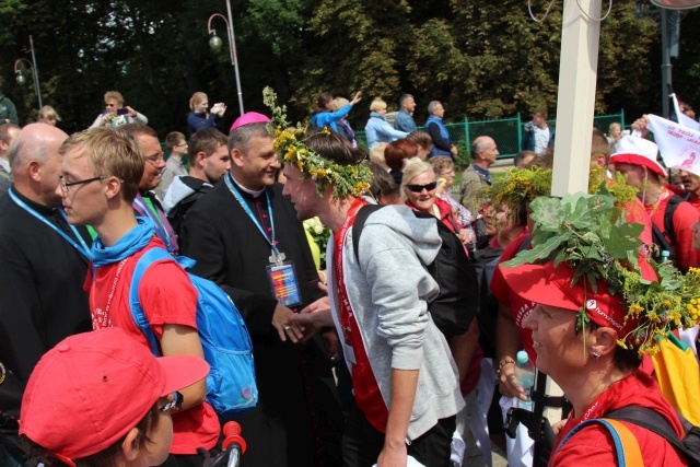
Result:
[[[119,128],[96,127],[73,133],[58,149],[66,155],[81,149],[81,156],[90,159],[95,176],[115,176],[121,182],[121,192],[128,202],[133,201],[143,175],[145,159],[136,140]]]

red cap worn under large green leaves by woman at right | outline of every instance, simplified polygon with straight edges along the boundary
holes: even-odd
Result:
[[[574,269],[565,262],[557,267],[553,261],[515,268],[501,266],[501,272],[513,292],[525,300],[572,312],[579,312],[585,305],[593,323],[616,329],[620,338],[637,327],[637,319],[631,317],[625,323],[627,308],[620,294],[610,294],[603,280],[596,282],[595,292],[591,284],[584,290],[583,278],[572,285]]]

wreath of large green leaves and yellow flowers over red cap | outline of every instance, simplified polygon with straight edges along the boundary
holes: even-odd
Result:
[[[654,354],[673,329],[700,324],[700,268],[690,268],[682,276],[668,261],[649,260],[658,281],[642,278],[637,259],[642,225],[627,222],[618,206],[619,199],[607,191],[605,184],[599,195],[536,198],[530,203],[532,218],[537,222],[533,248],[518,253],[504,266],[547,261],[557,266],[565,261],[575,270],[572,283],[583,280],[594,292],[596,280],[604,280],[609,293],[625,299],[625,324],[637,320],[634,329],[620,336],[617,343],[625,349],[638,348],[640,354]],[[590,320],[582,306],[576,328],[585,332]]]

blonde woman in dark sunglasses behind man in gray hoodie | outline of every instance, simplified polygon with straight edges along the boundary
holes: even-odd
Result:
[[[401,198],[406,206],[416,210],[428,212],[440,219],[443,224],[455,233],[462,243],[469,242],[469,233],[457,222],[452,207],[438,198],[438,182],[433,166],[419,157],[406,161],[404,178],[401,180]]]

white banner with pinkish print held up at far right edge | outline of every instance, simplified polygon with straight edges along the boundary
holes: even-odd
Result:
[[[664,164],[700,175],[700,131],[656,115],[649,114],[648,117],[646,128],[654,133]]]

